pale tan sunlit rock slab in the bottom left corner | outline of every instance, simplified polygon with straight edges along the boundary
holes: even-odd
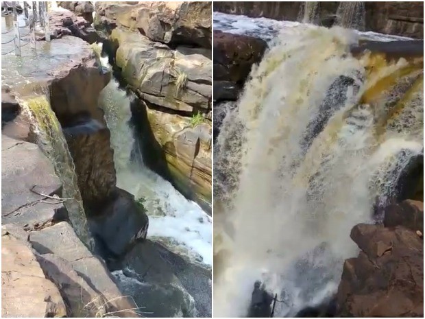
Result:
[[[65,317],[58,287],[45,278],[32,249],[5,232],[1,236],[1,316]]]

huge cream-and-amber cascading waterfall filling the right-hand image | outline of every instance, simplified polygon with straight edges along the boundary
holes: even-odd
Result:
[[[294,32],[253,67],[217,139],[215,316],[246,316],[256,280],[284,300],[276,317],[334,294],[351,228],[423,156],[423,58],[354,58],[341,27]]]

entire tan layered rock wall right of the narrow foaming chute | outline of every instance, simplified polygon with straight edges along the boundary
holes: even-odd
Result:
[[[210,3],[98,2],[95,10],[110,60],[141,99],[136,108],[145,109],[134,111],[149,126],[144,137],[154,137],[162,152],[156,161],[165,165],[153,168],[165,167],[158,173],[180,192],[210,203]]]

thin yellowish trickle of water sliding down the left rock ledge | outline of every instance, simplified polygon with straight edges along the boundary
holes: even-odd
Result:
[[[81,241],[94,251],[95,243],[88,229],[73,158],[69,153],[68,143],[58,118],[51,109],[49,92],[47,89],[43,91],[42,95],[25,99],[21,105],[27,116],[32,118],[39,146],[53,163],[55,172],[62,182],[62,198],[71,198],[64,201],[64,206],[74,231]]]

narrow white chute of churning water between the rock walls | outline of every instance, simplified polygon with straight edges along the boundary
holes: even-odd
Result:
[[[105,58],[101,60],[109,67]],[[117,186],[132,193],[136,200],[144,198],[149,215],[148,238],[210,267],[212,220],[198,204],[184,198],[170,182],[145,167],[130,127],[131,99],[119,89],[116,80],[111,80],[99,97],[111,132]]]

